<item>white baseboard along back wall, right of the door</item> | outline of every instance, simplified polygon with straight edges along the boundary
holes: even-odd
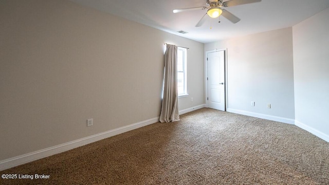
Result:
[[[238,110],[238,109],[234,109],[234,108],[228,108],[227,112],[246,115],[246,116],[251,116],[251,117],[256,117],[256,118],[261,118],[261,119],[267,119],[267,120],[271,120],[271,121],[278,121],[278,122],[281,122],[281,123],[295,124],[294,119],[282,118],[282,117],[278,117],[278,116],[271,116],[271,115],[265,115],[265,114],[259,114],[259,113],[253,113],[253,112],[248,112],[248,111],[245,111],[245,110]]]

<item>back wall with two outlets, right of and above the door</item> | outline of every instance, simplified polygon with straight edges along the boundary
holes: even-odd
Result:
[[[223,48],[228,53],[228,111],[293,123],[292,28],[205,44],[205,51]]]

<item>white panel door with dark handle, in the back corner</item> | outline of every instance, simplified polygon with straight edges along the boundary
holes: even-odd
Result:
[[[225,111],[225,51],[209,52],[208,107]]]

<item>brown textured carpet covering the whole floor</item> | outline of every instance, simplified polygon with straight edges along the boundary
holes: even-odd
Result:
[[[301,128],[202,108],[2,171],[1,184],[329,184],[329,143]]]

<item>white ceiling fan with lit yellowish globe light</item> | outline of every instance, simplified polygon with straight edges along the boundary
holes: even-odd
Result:
[[[222,7],[231,7],[236,5],[244,5],[249,3],[257,3],[261,2],[262,0],[228,0],[224,2],[224,0],[207,0],[208,7],[193,7],[193,8],[183,8],[183,9],[174,9],[174,13],[184,12],[184,11],[191,11],[191,10],[207,10],[207,13],[200,19],[200,21],[195,25],[195,27],[202,26],[203,23],[206,21],[206,15],[208,14],[211,18],[216,18],[220,15],[223,15],[232,23],[237,23],[240,21],[240,18],[233,15],[231,12],[223,9]]]

